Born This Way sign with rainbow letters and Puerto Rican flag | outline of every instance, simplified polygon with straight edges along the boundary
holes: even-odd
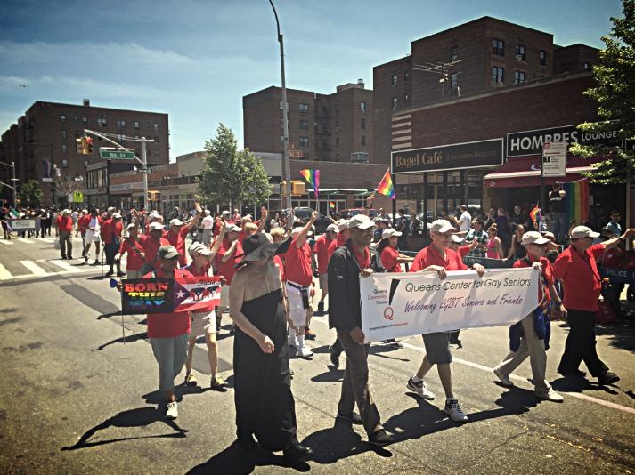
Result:
[[[205,310],[220,305],[221,278],[129,278],[121,281],[123,314]]]

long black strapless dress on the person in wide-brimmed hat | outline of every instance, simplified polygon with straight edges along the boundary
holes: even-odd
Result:
[[[291,393],[287,320],[281,289],[243,302],[242,313],[271,338],[275,350],[265,354],[248,334],[236,327],[233,343],[236,435],[256,436],[260,445],[276,452],[297,446],[296,408]]]

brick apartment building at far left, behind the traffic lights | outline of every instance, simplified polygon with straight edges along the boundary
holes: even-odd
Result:
[[[102,161],[99,148],[112,145],[102,139],[94,139],[91,155],[78,154],[75,139],[84,134],[84,129],[111,134],[114,141],[135,149],[138,157],[141,157],[141,144],[126,142],[124,137],[153,139],[154,142],[147,145],[148,163],[159,165],[169,161],[167,114],[94,107],[88,100],[84,100],[82,105],[35,102],[16,124],[2,134],[0,160],[15,163],[19,186],[28,180],[43,183],[43,205],[61,205],[66,198],[57,195],[53,200],[55,190],[50,182],[53,174],[59,173],[61,177],[81,182],[80,189],[95,189],[96,194],[107,186],[107,178],[103,176],[101,182],[95,182],[95,186],[91,187],[91,183],[85,181],[94,181],[94,173],[87,173],[87,170]],[[132,168],[133,165],[133,162],[127,161],[114,166],[120,169],[126,166]],[[0,180],[6,181],[11,172],[11,169],[0,167],[0,177],[4,177]]]

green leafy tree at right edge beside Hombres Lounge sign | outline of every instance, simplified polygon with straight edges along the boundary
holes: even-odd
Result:
[[[608,157],[593,172],[584,173],[591,182],[601,184],[629,183],[635,167],[635,0],[623,0],[623,18],[611,18],[613,28],[602,36],[606,48],[598,52],[600,64],[593,68],[596,85],[584,92],[598,103],[598,115],[604,121],[584,123],[578,129],[586,132],[614,130],[619,124],[619,147],[574,144],[570,151],[582,157]],[[628,195],[627,195],[628,196]]]

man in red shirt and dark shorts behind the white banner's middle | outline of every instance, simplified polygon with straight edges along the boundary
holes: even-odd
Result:
[[[411,272],[435,271],[439,278],[444,279],[446,270],[468,270],[460,255],[450,249],[452,234],[456,229],[452,228],[450,221],[436,220],[430,224],[430,246],[419,251],[411,265]],[[474,264],[479,276],[484,275],[484,267],[481,264]],[[423,382],[423,377],[432,366],[436,365],[439,379],[445,391],[445,414],[449,415],[452,421],[457,423],[467,423],[468,416],[460,408],[459,400],[454,398],[452,392],[452,373],[450,363],[452,363],[452,353],[450,352],[450,339],[446,332],[424,334],[423,344],[426,347],[426,356],[421,362],[417,374],[411,377],[406,387],[414,391],[423,399],[435,399],[435,395],[427,389]]]

